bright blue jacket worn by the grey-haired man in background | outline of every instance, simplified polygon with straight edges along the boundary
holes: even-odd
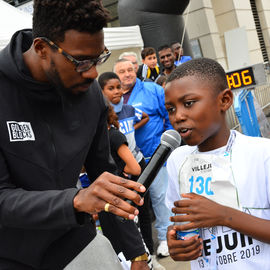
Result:
[[[160,144],[162,133],[173,128],[165,109],[164,90],[156,83],[137,79],[128,104],[149,115],[147,124],[135,131],[137,145],[147,159]]]

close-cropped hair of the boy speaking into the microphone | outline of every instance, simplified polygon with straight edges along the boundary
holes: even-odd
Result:
[[[209,81],[218,92],[228,88],[225,70],[210,58],[196,58],[181,64],[168,76],[166,83],[186,76],[198,76],[204,81]]]

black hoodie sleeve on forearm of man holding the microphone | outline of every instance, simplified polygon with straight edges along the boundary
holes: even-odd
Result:
[[[31,179],[29,181],[43,181]],[[62,229],[79,226],[72,207],[76,188],[29,191],[13,184],[4,154],[0,151],[0,223],[9,228]]]

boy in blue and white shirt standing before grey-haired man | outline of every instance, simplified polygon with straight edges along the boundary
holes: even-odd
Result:
[[[140,149],[136,145],[135,130],[145,125],[149,121],[149,116],[140,109],[131,105],[123,104],[123,90],[117,74],[114,72],[105,72],[98,78],[104,96],[108,98],[116,111],[119,121],[119,130],[125,134],[130,151],[133,153],[141,170],[146,167],[145,159]],[[131,179],[138,180],[138,177],[132,175]],[[152,224],[150,214],[150,195],[147,193],[144,197],[144,204],[139,207],[139,227],[145,241],[145,244],[151,254],[154,269],[162,270],[154,256],[154,243],[152,238]]]

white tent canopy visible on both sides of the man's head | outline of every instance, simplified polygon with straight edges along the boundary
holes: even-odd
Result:
[[[20,29],[32,27],[32,15],[0,0],[0,50],[11,36]],[[129,27],[104,28],[104,43],[110,50],[142,48],[143,40],[138,25]]]

